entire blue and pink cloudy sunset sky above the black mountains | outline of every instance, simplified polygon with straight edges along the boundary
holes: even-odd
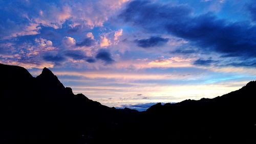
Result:
[[[48,67],[110,107],[214,98],[256,80],[256,3],[0,0],[0,63]]]

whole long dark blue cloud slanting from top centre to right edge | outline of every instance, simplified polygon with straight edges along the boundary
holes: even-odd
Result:
[[[187,6],[148,1],[131,2],[119,17],[148,32],[186,39],[202,52],[247,59],[256,57],[256,26],[246,21],[231,22],[212,13],[193,16]]]

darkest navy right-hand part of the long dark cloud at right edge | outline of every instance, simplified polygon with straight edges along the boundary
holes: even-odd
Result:
[[[230,23],[212,14],[205,14],[179,24],[169,23],[166,29],[175,36],[190,40],[204,51],[234,57],[256,56],[256,27],[244,22]]]

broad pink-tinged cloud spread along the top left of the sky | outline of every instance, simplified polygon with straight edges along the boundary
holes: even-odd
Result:
[[[36,35],[42,26],[59,29],[69,20],[71,27],[102,27],[103,23],[114,15],[128,0],[109,1],[65,1],[56,5],[47,2],[28,1],[24,3],[30,11],[20,10],[17,16],[23,18],[22,25],[10,19],[3,27],[2,38]],[[24,22],[25,21],[25,22]]]

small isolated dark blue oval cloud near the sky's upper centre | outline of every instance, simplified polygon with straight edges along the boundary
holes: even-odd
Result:
[[[150,37],[148,39],[140,39],[135,40],[138,46],[147,48],[147,47],[153,47],[153,46],[161,46],[168,42],[168,38],[162,38],[162,37]]]

